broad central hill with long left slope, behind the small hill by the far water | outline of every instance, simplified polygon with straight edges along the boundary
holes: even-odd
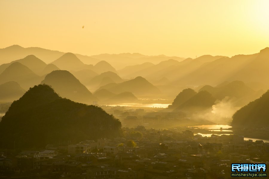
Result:
[[[160,94],[161,91],[151,83],[149,83],[145,78],[143,77],[136,77],[133,80],[125,81],[122,83],[114,84],[110,83],[105,86],[101,86],[100,89],[107,89],[108,91],[111,91],[112,93],[123,93],[126,91],[132,92],[136,96],[144,96],[144,95],[156,95]]]

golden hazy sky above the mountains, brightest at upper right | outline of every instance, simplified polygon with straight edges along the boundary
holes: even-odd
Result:
[[[268,0],[0,0],[0,48],[253,54],[269,46],[268,9]]]

